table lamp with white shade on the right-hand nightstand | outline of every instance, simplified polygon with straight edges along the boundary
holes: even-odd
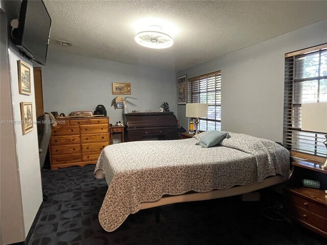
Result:
[[[302,104],[302,130],[327,133],[327,103],[303,103]],[[326,140],[323,142],[327,149]],[[327,170],[327,159],[321,165]]]

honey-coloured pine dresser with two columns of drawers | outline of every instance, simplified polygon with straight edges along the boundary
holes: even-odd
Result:
[[[56,119],[50,138],[51,169],[97,163],[110,144],[109,117]]]

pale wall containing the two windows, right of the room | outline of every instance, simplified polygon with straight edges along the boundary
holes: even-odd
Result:
[[[285,53],[327,42],[327,19],[177,72],[188,78],[221,70],[222,130],[282,142]],[[178,106],[188,127],[185,106]]]

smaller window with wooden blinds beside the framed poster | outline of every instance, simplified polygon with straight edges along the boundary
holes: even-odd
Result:
[[[208,104],[207,118],[200,118],[199,130],[221,129],[221,74],[220,71],[189,79],[189,103]]]

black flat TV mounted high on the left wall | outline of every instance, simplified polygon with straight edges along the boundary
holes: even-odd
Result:
[[[50,28],[51,17],[43,1],[23,0],[18,28],[13,31],[14,43],[28,57],[45,65]]]

